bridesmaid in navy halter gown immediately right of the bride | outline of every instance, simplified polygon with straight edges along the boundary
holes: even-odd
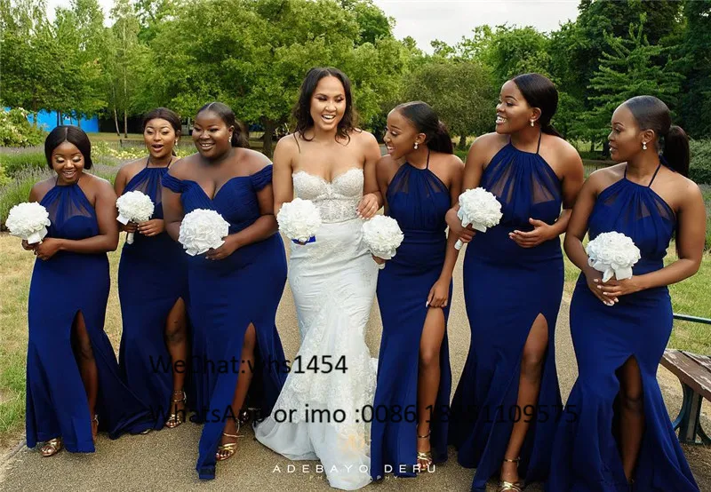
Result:
[[[402,104],[387,115],[385,143],[379,189],[404,240],[378,277],[383,335],[371,430],[373,480],[384,477],[386,464],[395,476],[411,477],[447,459],[447,422],[439,410],[446,412],[450,402],[446,328],[457,237],[447,239],[444,216],[459,198],[464,171],[452,155],[449,132],[424,102]]]

